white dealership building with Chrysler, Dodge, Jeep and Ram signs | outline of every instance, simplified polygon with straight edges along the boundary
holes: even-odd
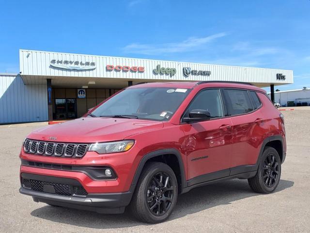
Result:
[[[230,81],[270,87],[293,71],[19,50],[20,72],[0,73],[0,124],[83,116],[122,88],[144,82]]]

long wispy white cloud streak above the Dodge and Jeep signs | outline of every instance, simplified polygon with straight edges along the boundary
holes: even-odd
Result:
[[[124,47],[127,53],[140,53],[146,55],[159,55],[165,53],[186,52],[197,50],[202,45],[210,43],[217,38],[226,36],[226,33],[217,33],[206,37],[190,37],[184,41],[166,44],[140,44],[134,43]]]

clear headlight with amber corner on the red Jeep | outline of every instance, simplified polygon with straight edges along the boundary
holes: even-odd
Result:
[[[89,148],[89,151],[96,151],[98,154],[124,152],[132,148],[134,143],[134,140],[99,142],[92,144]]]

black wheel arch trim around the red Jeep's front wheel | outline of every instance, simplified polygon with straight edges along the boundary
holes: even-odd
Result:
[[[180,152],[178,150],[176,150],[176,149],[173,149],[173,148],[171,148],[171,149],[155,150],[155,151],[152,151],[150,153],[145,154],[142,157],[142,159],[141,159],[141,161],[139,163],[139,166],[138,166],[138,168],[136,170],[136,173],[135,173],[135,176],[134,176],[134,179],[133,179],[131,185],[133,185],[133,186],[137,185],[138,180],[139,180],[140,175],[141,175],[141,172],[143,170],[143,167],[145,166],[145,164],[147,162],[151,162],[151,161],[163,162],[161,159],[162,158],[163,159],[164,158],[168,158],[168,156],[173,156],[177,160],[177,162],[178,162],[178,166],[177,167],[176,166],[171,167],[171,165],[169,165],[169,163],[165,163],[165,162],[164,163],[167,164],[168,166],[170,166],[171,169],[174,171],[175,176],[177,177],[177,180],[178,180],[178,186],[180,187],[179,188],[179,192],[181,192],[182,188],[186,187],[185,167],[184,167],[182,156],[181,156]],[[176,168],[179,169],[179,171],[177,173],[180,173],[180,174],[176,173]]]

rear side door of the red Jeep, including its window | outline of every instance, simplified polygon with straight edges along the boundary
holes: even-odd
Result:
[[[260,112],[259,100],[253,101],[242,89],[224,89],[227,113],[233,125],[231,167],[256,164],[268,127]],[[253,94],[253,93],[251,93]],[[254,93],[255,94],[255,93]]]

